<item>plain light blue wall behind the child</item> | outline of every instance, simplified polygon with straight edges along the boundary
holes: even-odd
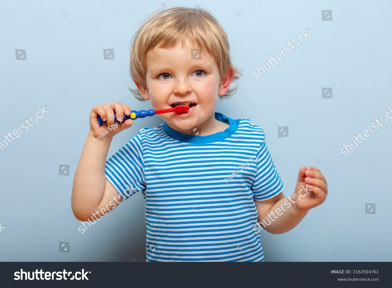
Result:
[[[347,157],[340,149],[392,106],[392,2],[165,5],[199,5],[224,27],[243,95],[220,101],[216,111],[264,129],[284,194],[294,192],[302,165],[327,178],[327,200],[296,228],[261,232],[265,261],[391,261],[392,122]],[[135,87],[129,45],[137,23],[158,7],[150,0],[0,1],[0,138],[38,106],[49,111],[0,151],[0,261],[145,261],[141,193],[81,235],[71,191],[91,108],[113,101],[151,108],[128,90]],[[321,10],[331,9],[333,20],[322,21]],[[308,28],[308,40],[255,80],[256,66]],[[25,49],[27,60],[16,60],[15,49]],[[103,49],[114,49],[114,60],[103,60]],[[332,99],[321,98],[322,87],[333,88]],[[160,123],[158,116],[136,120],[114,137],[108,157],[141,128]],[[278,138],[279,126],[289,126],[289,137]],[[70,165],[69,176],[59,175],[62,164]],[[376,214],[365,214],[365,203],[376,203]],[[70,242],[70,253],[59,253],[59,242]]]

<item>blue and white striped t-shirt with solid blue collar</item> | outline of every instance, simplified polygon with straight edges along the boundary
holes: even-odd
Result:
[[[215,118],[229,128],[189,136],[165,122],[141,129],[106,161],[118,193],[144,195],[147,262],[264,261],[254,201],[278,195],[283,182],[263,129]]]

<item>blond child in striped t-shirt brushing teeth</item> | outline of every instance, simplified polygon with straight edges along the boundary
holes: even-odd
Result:
[[[132,92],[152,109],[191,108],[160,114],[165,123],[141,129],[105,162],[113,136],[132,125],[120,116],[131,109],[119,102],[94,107],[72,191],[77,219],[106,215],[142,192],[147,261],[263,261],[260,224],[284,233],[325,201],[325,177],[303,166],[285,198],[263,129],[214,112],[217,95],[230,95],[240,74],[224,29],[205,10],[171,8],[140,28],[130,72],[138,88]],[[102,127],[98,115],[107,120]]]

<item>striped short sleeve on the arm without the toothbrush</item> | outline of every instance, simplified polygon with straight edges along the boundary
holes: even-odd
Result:
[[[256,165],[256,177],[252,184],[253,199],[263,201],[278,195],[283,190],[283,181],[276,171],[264,139],[257,151]]]

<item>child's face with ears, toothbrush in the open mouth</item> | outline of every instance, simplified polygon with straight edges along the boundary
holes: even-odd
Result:
[[[224,95],[232,81],[229,75],[220,83],[215,59],[207,52],[201,53],[201,60],[192,59],[191,49],[197,47],[191,46],[187,41],[187,47],[184,48],[181,48],[181,43],[178,43],[173,48],[155,47],[148,51],[146,55],[148,89],[145,91],[139,89],[143,98],[151,100],[154,110],[172,108],[173,104],[178,102],[196,104],[183,114],[159,115],[169,127],[181,133],[194,126],[207,125],[209,128],[213,126],[217,121],[214,110],[218,95]]]

